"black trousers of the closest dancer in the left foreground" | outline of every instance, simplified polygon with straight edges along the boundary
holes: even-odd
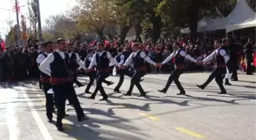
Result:
[[[62,125],[62,118],[65,115],[66,97],[69,97],[69,99],[72,101],[78,119],[85,116],[82,107],[80,106],[80,103],[78,101],[78,98],[75,95],[75,89],[72,85],[72,82],[67,82],[62,85],[53,85],[52,87],[58,107],[56,121],[57,126]]]

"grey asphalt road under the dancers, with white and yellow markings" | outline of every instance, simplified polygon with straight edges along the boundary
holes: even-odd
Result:
[[[131,97],[114,93],[115,82],[106,86],[109,101],[88,99],[85,87],[75,88],[89,120],[78,123],[75,110],[66,107],[69,117],[63,120],[64,132],[47,123],[45,98],[37,82],[3,83],[0,89],[1,140],[255,140],[256,139],[256,76],[239,75],[239,82],[226,86],[228,95],[217,95],[216,82],[205,90],[203,83],[209,73],[184,73],[181,82],[187,95],[178,96],[172,85],[167,94],[162,89],[168,75],[146,75],[142,87],[149,92],[139,98],[135,88]],[[79,77],[87,82],[87,77]],[[130,78],[121,88],[126,92]],[[91,91],[94,86],[91,88]],[[56,116],[53,118],[56,120]]]

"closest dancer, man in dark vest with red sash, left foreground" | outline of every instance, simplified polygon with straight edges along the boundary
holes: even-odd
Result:
[[[78,117],[78,121],[87,120],[85,114],[80,106],[78,98],[75,93],[75,89],[72,86],[72,73],[70,72],[70,59],[69,54],[66,54],[66,42],[65,39],[57,39],[56,47],[58,48],[52,54],[40,64],[39,69],[51,76],[50,83],[52,84],[52,89],[56,95],[57,101],[57,120],[56,127],[59,131],[63,130],[62,118],[65,115],[65,103],[66,97],[68,96],[75,107],[75,112]]]

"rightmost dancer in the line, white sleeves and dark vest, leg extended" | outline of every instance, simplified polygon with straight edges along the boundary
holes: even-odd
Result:
[[[213,51],[212,54],[210,54],[208,57],[206,57],[203,60],[203,63],[206,63],[207,61],[212,60],[213,58],[216,59],[216,69],[213,70],[213,72],[210,74],[209,78],[206,80],[206,82],[203,83],[203,85],[197,85],[200,89],[205,89],[206,86],[215,78],[219,89],[221,92],[219,94],[226,94],[226,89],[222,85],[222,75],[226,73],[226,65],[229,61],[229,56],[226,53],[226,47],[229,46],[229,40],[228,39],[222,39],[222,46],[217,48],[215,51]]]

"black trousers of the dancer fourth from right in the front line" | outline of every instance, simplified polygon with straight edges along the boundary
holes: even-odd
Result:
[[[95,97],[97,92],[100,91],[103,98],[107,98],[107,94],[104,91],[104,88],[102,86],[102,82],[107,82],[106,78],[110,76],[109,73],[97,73],[96,75],[96,89],[92,93],[91,97]]]

